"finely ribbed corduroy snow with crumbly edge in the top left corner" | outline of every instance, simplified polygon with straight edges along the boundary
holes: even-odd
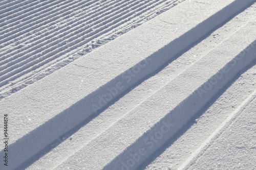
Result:
[[[184,0],[183,0],[184,1]],[[183,2],[15,1],[0,10],[0,99]]]

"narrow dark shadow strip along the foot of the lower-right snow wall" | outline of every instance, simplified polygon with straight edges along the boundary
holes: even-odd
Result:
[[[228,84],[226,84],[209,102],[207,102],[204,107],[194,115],[189,122],[183,126],[172,138],[167,140],[156,152],[154,152],[150,157],[143,161],[142,164],[136,170],[146,169],[146,166],[150,165],[157,157],[164,153],[166,149],[168,149],[179,137],[184,135],[184,133],[190,129],[195,123],[196,119],[200,118],[203,113],[205,113],[209,107],[211,107],[219,98],[220,96],[234,83],[236,82],[239,77],[244,74],[247,70],[252,68],[256,65],[256,60],[254,60],[250,65],[242,69]]]

